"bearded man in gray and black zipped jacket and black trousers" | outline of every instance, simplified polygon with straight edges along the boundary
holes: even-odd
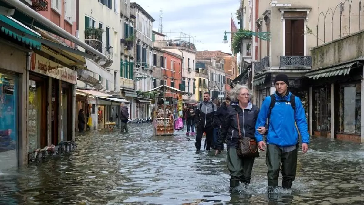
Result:
[[[206,150],[210,150],[211,142],[214,134],[213,119],[217,111],[215,103],[212,102],[209,92],[203,93],[203,101],[197,105],[195,112],[196,129],[196,143],[197,151],[201,150],[201,139],[203,132],[206,133]]]

